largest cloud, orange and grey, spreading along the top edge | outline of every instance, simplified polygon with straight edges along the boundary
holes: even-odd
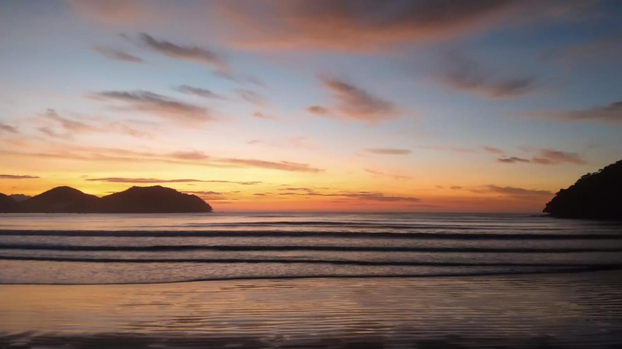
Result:
[[[437,42],[501,25],[557,16],[576,1],[223,1],[231,40],[243,47],[381,50]]]

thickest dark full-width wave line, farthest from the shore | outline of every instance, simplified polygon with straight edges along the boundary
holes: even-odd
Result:
[[[451,240],[622,240],[622,233],[412,233],[289,230],[0,230],[0,236],[63,237],[337,237]]]

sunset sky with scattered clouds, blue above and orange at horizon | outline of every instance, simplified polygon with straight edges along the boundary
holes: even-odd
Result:
[[[539,212],[622,158],[619,1],[0,0],[0,193]]]

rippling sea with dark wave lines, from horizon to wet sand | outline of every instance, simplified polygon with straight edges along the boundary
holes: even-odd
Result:
[[[7,214],[0,283],[610,270],[622,227],[509,214]]]

